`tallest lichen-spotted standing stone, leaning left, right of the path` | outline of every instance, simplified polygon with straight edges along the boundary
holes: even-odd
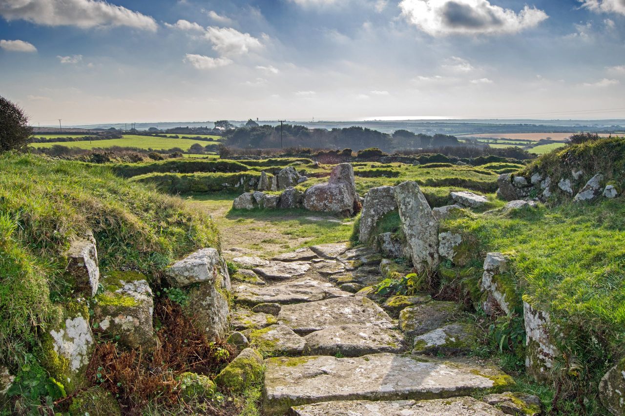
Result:
[[[434,213],[414,181],[395,186],[395,199],[402,230],[419,273],[434,269],[438,264],[438,223]]]

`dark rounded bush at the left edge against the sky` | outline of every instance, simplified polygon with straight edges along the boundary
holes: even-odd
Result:
[[[24,150],[31,135],[32,127],[22,109],[0,97],[0,153]]]

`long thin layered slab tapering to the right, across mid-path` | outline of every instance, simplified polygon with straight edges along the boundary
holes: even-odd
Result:
[[[314,302],[331,299],[332,297],[353,296],[351,293],[342,291],[331,283],[321,282],[312,278],[301,278],[262,287],[244,283],[233,286],[232,290],[237,302],[249,306],[259,303],[291,304]]]

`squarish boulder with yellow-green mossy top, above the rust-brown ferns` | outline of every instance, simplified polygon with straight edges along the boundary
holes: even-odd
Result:
[[[103,279],[104,292],[96,296],[94,322],[129,348],[156,347],[152,326],[152,289],[141,273],[114,272]]]

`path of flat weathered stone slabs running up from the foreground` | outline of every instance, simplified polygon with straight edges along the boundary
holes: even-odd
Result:
[[[321,244],[236,260],[246,270],[232,276],[231,324],[265,357],[264,415],[503,414],[467,396],[504,391],[511,377],[477,359],[432,357],[476,340],[455,303],[417,295],[382,309],[366,288],[339,288],[382,281],[372,249]]]

